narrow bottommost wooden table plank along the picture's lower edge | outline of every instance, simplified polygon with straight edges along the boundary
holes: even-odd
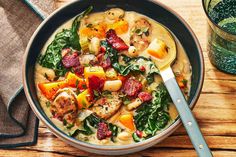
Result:
[[[235,151],[224,151],[224,150],[213,150],[212,151],[214,157],[233,157],[236,156]],[[3,151],[1,153],[1,157],[76,157],[76,156],[90,156],[90,157],[104,157],[105,155],[96,155],[91,153],[82,152],[77,150],[76,153],[71,154],[71,152],[61,153],[56,151],[48,151],[41,152],[38,150],[11,150],[11,151]],[[29,155],[30,154],[30,155]],[[152,156],[152,157],[197,157],[195,150],[193,149],[147,149],[145,151],[141,151],[135,154],[126,155],[126,157],[144,157],[144,156]]]

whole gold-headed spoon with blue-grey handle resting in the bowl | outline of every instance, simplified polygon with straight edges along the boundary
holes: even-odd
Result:
[[[151,59],[154,61],[158,69],[160,70],[161,77],[166,85],[167,90],[171,96],[173,103],[175,104],[177,111],[180,115],[182,123],[184,124],[185,129],[191,139],[191,142],[197,151],[198,156],[200,157],[212,157],[212,153],[208,148],[208,145],[198,127],[198,124],[189,108],[188,103],[185,100],[177,82],[175,75],[171,69],[171,65],[176,59],[176,44],[172,34],[160,24],[161,29],[163,29],[166,35],[168,35],[172,41],[169,41],[171,44],[171,50],[166,53],[161,59],[151,56]]]

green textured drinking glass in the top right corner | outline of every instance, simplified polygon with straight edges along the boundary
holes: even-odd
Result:
[[[236,0],[203,0],[208,17],[208,56],[219,70],[236,74]]]

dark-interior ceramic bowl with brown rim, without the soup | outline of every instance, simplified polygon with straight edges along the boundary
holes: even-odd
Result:
[[[200,45],[191,28],[179,15],[163,4],[150,0],[142,0],[138,2],[133,0],[73,1],[68,5],[56,10],[48,18],[46,18],[31,37],[24,55],[24,90],[32,110],[36,116],[48,127],[48,129],[50,129],[53,134],[66,143],[92,153],[121,155],[141,151],[155,145],[172,134],[180,126],[180,119],[178,118],[171,126],[163,130],[160,134],[143,142],[121,146],[101,146],[79,141],[64,134],[50,121],[39,104],[34,84],[34,67],[37,56],[39,55],[47,39],[60,25],[75,17],[77,14],[85,10],[89,5],[94,7],[93,12],[105,11],[114,7],[119,7],[127,11],[136,11],[162,23],[175,34],[186,50],[192,65],[192,87],[190,99],[188,101],[190,108],[193,108],[197,102],[204,79],[203,56]]]

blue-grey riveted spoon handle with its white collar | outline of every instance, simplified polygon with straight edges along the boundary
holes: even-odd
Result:
[[[161,76],[175,104],[182,123],[199,157],[212,157],[211,151],[198,127],[198,124],[176,82],[172,69],[161,71]]]

